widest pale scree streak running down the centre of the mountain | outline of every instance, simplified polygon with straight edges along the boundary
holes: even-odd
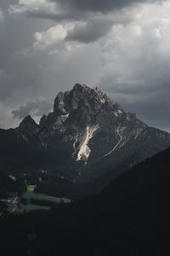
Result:
[[[88,157],[91,154],[91,149],[88,147],[88,143],[94,137],[94,132],[98,129],[99,125],[87,126],[82,143],[80,144],[80,150],[77,154],[77,161],[85,160],[87,162]]]

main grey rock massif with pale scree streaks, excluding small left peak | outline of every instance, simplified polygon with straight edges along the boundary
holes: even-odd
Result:
[[[100,90],[75,84],[71,91],[56,96],[54,112],[42,116],[38,136],[50,148],[51,138],[59,134],[72,157],[87,163],[90,158],[112,154],[132,138],[137,140],[146,128],[135,114],[124,111]]]

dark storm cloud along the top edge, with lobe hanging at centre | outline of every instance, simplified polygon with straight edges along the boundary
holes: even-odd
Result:
[[[138,3],[161,3],[166,0],[51,0],[37,3],[28,1],[14,6],[14,12],[26,12],[27,15],[55,20],[57,22],[79,21],[75,28],[68,32],[66,40],[85,44],[94,42],[105,36],[114,24],[124,24],[129,21],[132,5]],[[57,5],[55,6],[54,3]],[[51,5],[50,5],[51,4]],[[126,9],[126,11],[122,11]],[[13,12],[13,8],[11,8]],[[120,14],[117,15],[116,11]],[[128,19],[127,20],[127,14]],[[105,19],[107,15],[112,15]],[[82,22],[83,24],[82,24]]]

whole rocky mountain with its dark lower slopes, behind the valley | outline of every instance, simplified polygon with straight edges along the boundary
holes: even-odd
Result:
[[[75,84],[59,92],[39,125],[27,116],[16,129],[0,130],[0,164],[37,191],[72,196],[83,194],[80,187],[99,191],[169,146],[167,132],[145,125],[97,88]]]

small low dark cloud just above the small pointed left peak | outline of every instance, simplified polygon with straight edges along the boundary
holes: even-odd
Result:
[[[14,118],[23,119],[28,114],[34,116],[42,116],[45,113],[49,113],[52,108],[52,104],[45,100],[37,100],[37,102],[27,102],[26,105],[20,106],[19,109],[13,110],[11,113]]]

